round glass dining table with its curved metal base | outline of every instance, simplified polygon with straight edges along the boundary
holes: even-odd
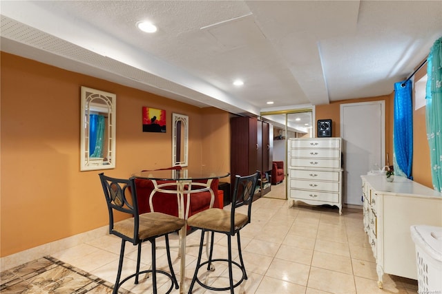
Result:
[[[135,178],[151,180],[153,191],[149,196],[149,207],[154,211],[153,196],[157,192],[177,195],[178,217],[186,222],[180,230],[180,293],[185,293],[185,267],[186,267],[186,235],[187,218],[189,217],[189,207],[191,194],[209,191],[211,193],[210,206],[213,207],[215,194],[211,189],[211,183],[214,179],[226,178],[230,174],[226,171],[204,171],[202,169],[162,169],[155,171],[141,171],[133,174]],[[184,203],[184,196],[186,203]]]

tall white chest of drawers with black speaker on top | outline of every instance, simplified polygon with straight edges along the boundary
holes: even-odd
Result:
[[[291,138],[287,195],[292,203],[329,204],[342,214],[342,138]]]

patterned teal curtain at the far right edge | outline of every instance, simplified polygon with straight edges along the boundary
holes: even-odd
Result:
[[[442,37],[427,59],[426,125],[434,190],[442,192]]]

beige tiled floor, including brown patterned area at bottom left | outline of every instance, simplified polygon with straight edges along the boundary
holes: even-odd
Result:
[[[271,193],[278,191],[273,187]],[[378,288],[376,263],[363,231],[361,209],[343,209],[340,216],[338,209],[327,206],[289,207],[287,200],[260,198],[253,202],[252,211],[251,224],[241,231],[242,252],[249,279],[242,282],[235,293],[417,292],[415,280],[392,275],[384,275],[383,289]],[[197,244],[199,238],[199,231],[193,232],[188,235],[187,244]],[[177,235],[171,235],[171,244],[176,244],[176,240]],[[160,240],[159,245],[161,243]],[[52,255],[52,258],[81,271],[44,258],[3,272],[1,293],[108,293],[108,286],[115,282],[119,246],[119,238],[106,235]],[[142,250],[143,270],[151,265],[150,244],[146,242]],[[177,248],[171,250],[173,268],[180,280]],[[187,287],[197,255],[196,247],[186,251]],[[233,256],[238,256],[236,249]],[[214,258],[225,257],[227,238],[215,235]],[[135,263],[136,246],[128,244],[122,276],[133,273]],[[157,267],[168,271],[164,249],[157,249]],[[233,269],[233,275],[235,273],[238,272]],[[224,264],[215,264],[215,271],[200,271],[199,275],[213,286],[228,283]],[[159,293],[165,293],[170,286],[169,281],[162,277],[158,280]],[[125,290],[122,291],[152,293],[151,279],[142,279],[138,285],[129,280],[123,286]],[[179,291],[173,290],[172,293]],[[196,284],[193,293],[228,292],[205,291]]]

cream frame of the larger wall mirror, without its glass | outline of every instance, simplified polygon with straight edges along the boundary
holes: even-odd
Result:
[[[112,93],[81,86],[81,122],[80,122],[80,170],[94,171],[98,169],[115,169],[116,145],[116,98]],[[98,102],[95,101],[98,99]],[[95,103],[94,103],[95,101]],[[92,160],[89,157],[89,117],[91,112],[105,115],[104,157]]]

